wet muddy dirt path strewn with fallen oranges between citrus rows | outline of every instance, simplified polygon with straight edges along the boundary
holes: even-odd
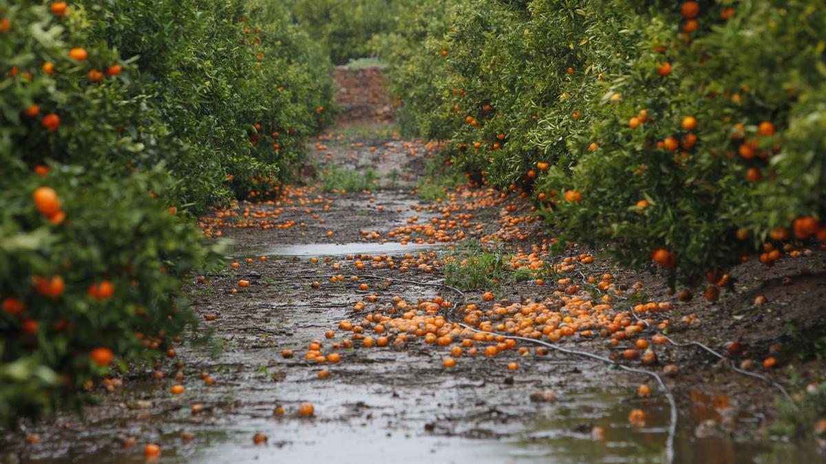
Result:
[[[448,335],[439,333],[444,320],[437,316],[456,322],[441,301],[462,302],[454,291],[425,285],[444,282],[450,247],[459,239],[496,239],[509,253],[537,250],[547,263],[577,258],[582,274],[570,274],[576,279],[611,273],[615,297],[672,305],[651,317],[669,320],[676,339],[723,349],[740,337],[752,351],[743,357],[755,360],[782,333],[781,318],[771,320],[776,313],[753,310],[755,296],[767,296],[776,311],[813,314],[819,305],[809,303],[826,296],[823,253],[809,253],[771,269],[738,268],[742,290],[719,304],[681,303],[665,294],[662,279],[612,268],[599,250],[544,253],[549,237],[536,222],[519,219],[530,216],[531,205],[515,193],[463,187],[453,201],[420,201],[411,190],[438,147],[395,140],[390,125],[350,125],[344,132],[311,141],[311,171],[318,176],[301,179],[308,186],[207,220],[213,234],[235,240],[237,263],[192,283],[202,318],[197,335],[212,335],[215,357],[210,347],[181,344],[175,359],[97,386],[100,404],[87,410],[85,423],[61,414],[21,431],[21,437],[38,434],[39,444],[8,438],[4,462],[140,462],[145,443],[160,445],[160,462],[662,462],[669,408],[647,376],[530,343],[470,346],[462,340],[472,337],[458,332],[448,346],[426,341],[429,324],[439,337]],[[336,170],[336,182],[362,182],[368,168],[375,173],[366,181],[370,192],[323,192]],[[597,258],[586,263],[583,256]],[[345,277],[327,277],[337,275]],[[788,276],[795,276],[789,285],[777,283]],[[562,307],[566,293],[586,301],[596,296],[581,283],[569,291],[567,282],[539,286],[529,279],[497,287],[495,301],[484,301],[482,288],[466,296],[498,323],[504,322],[496,317],[499,307]],[[415,318],[423,321],[421,334],[405,329],[405,320]],[[766,329],[755,334],[755,327]],[[596,335],[560,343],[619,358],[628,348]],[[365,346],[367,338],[384,343],[382,337],[387,347]],[[325,362],[307,356],[314,342]],[[485,356],[491,346],[501,352]],[[463,353],[454,352],[456,366],[445,368],[452,347]],[[283,350],[294,354],[284,357]],[[813,448],[770,443],[755,433],[776,414],[776,391],[767,384],[719,368],[692,348],[657,346],[656,353],[658,361],[648,366],[654,372],[669,363],[681,368],[666,377],[680,406],[676,462],[816,459]],[[764,373],[786,383],[785,373]],[[651,398],[637,396],[643,383],[653,388]],[[175,384],[186,388],[183,395],[170,393]],[[297,414],[303,402],[313,405],[312,417]],[[636,409],[644,410],[645,424],[629,424]],[[256,433],[266,443],[254,445]]]

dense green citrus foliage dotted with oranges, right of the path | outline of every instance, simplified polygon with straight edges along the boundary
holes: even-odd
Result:
[[[479,0],[455,2],[447,23],[437,11],[400,21],[444,25],[399,33],[395,51],[415,63],[392,70],[402,106],[421,135],[449,140],[447,163],[533,191],[561,243],[611,244],[673,283],[826,239],[823,8]]]

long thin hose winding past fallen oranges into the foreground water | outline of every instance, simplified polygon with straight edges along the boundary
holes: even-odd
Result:
[[[338,276],[320,276],[318,274],[310,274],[310,275],[306,275],[306,276],[307,277],[325,277],[325,278],[338,277]],[[394,277],[373,276],[373,275],[370,275],[370,274],[363,274],[363,275],[358,275],[358,276],[342,276],[342,277],[359,277],[359,278],[365,277],[365,278],[371,278],[371,279],[383,279],[385,281],[390,280],[390,281],[396,281],[396,282],[405,282],[405,283],[409,283],[409,284],[412,284],[412,285],[418,285],[418,286],[440,286],[440,287],[444,287],[444,288],[447,288],[451,291],[455,291],[456,293],[458,293],[459,296],[462,296],[463,303],[468,301],[468,298],[465,296],[463,291],[459,290],[456,287],[445,285],[444,283],[415,282],[415,281],[410,281],[410,280],[400,279],[400,278],[394,278]],[[448,316],[449,317],[453,316],[454,311],[456,309],[458,309],[459,306],[460,306],[459,303],[453,303],[453,307],[450,309],[450,311],[448,313]],[[452,321],[452,324],[458,324],[459,326],[464,327],[466,329],[470,329],[473,332],[486,333],[486,332],[484,332],[482,330],[479,330],[479,329],[476,329],[476,328],[474,328],[474,327],[472,327],[468,324],[464,324],[462,322],[458,322],[458,321],[455,321],[455,320]],[[654,379],[657,380],[657,384],[659,384],[660,389],[663,392],[663,395],[666,396],[666,398],[668,400],[668,405],[670,406],[670,409],[671,409],[671,420],[670,420],[670,425],[668,427],[668,438],[667,438],[667,442],[666,442],[666,462],[668,462],[669,464],[674,462],[674,438],[676,437],[676,423],[677,423],[676,400],[674,400],[674,395],[672,395],[671,391],[668,390],[668,388],[666,387],[665,382],[662,381],[662,377],[660,377],[657,374],[657,372],[648,371],[648,370],[645,370],[645,369],[638,369],[638,368],[635,368],[635,367],[628,367],[628,366],[625,366],[624,364],[616,362],[616,361],[614,361],[614,360],[612,360],[608,357],[603,357],[603,356],[599,356],[599,355],[596,355],[596,354],[593,354],[593,353],[587,353],[587,352],[579,351],[579,350],[562,348],[558,345],[554,345],[552,343],[547,343],[547,342],[544,342],[544,341],[538,340],[538,339],[528,339],[526,337],[517,337],[515,335],[501,335],[501,336],[505,337],[506,339],[520,340],[520,341],[524,341],[524,342],[528,342],[528,343],[537,343],[537,344],[543,345],[544,347],[556,350],[560,353],[567,353],[567,354],[572,354],[572,355],[580,356],[580,357],[589,357],[589,358],[594,359],[596,361],[605,362],[605,363],[608,363],[612,366],[619,367],[619,369],[622,369],[626,372],[634,372],[634,373],[638,373],[638,374],[645,374],[647,376],[652,376]]]

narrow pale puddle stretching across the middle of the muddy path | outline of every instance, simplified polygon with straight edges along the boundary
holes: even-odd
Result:
[[[345,254],[391,254],[411,253],[444,247],[447,243],[435,244],[400,244],[398,242],[375,243],[355,242],[352,244],[288,244],[271,245],[254,249],[245,249],[244,254],[265,255],[268,257],[294,256],[339,256]]]

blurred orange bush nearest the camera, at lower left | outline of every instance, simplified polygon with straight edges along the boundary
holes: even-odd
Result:
[[[7,182],[0,196],[0,418],[79,405],[107,375],[174,356],[195,322],[188,272],[221,254],[170,214],[163,170],[117,181],[83,168]]]

